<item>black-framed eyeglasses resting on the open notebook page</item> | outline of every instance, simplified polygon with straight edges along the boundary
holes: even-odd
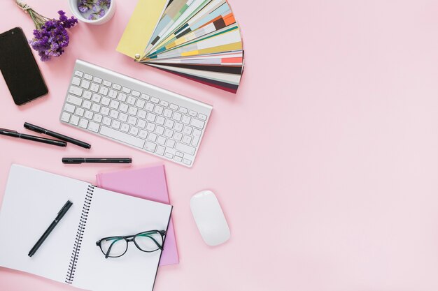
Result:
[[[105,258],[118,258],[125,255],[129,241],[133,241],[140,251],[152,253],[163,249],[165,230],[148,230],[125,237],[104,237],[96,241]]]

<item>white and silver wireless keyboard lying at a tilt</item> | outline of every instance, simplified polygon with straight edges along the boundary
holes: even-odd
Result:
[[[213,107],[77,60],[64,124],[191,167]]]

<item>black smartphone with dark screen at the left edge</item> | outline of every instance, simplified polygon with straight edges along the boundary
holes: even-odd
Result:
[[[48,94],[34,54],[20,27],[0,34],[0,70],[15,104]]]

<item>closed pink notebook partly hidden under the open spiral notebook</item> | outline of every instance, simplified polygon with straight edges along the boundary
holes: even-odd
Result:
[[[101,173],[96,175],[96,179],[97,186],[100,188],[169,204],[164,165]],[[167,228],[160,265],[178,264],[178,262],[174,224],[171,220]]]

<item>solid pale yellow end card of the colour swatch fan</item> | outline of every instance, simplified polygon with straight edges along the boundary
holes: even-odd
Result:
[[[136,59],[143,54],[168,0],[139,0],[115,50]]]

